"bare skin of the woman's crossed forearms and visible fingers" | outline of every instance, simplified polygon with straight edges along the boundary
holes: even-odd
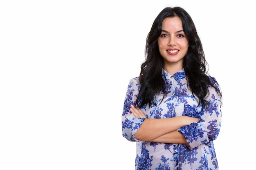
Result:
[[[198,122],[198,118],[189,116],[178,116],[165,119],[146,119],[145,114],[141,109],[131,105],[130,111],[133,116],[145,118],[138,131],[135,133],[135,138],[141,141],[153,141],[164,143],[187,143],[184,136],[176,131],[177,129]]]

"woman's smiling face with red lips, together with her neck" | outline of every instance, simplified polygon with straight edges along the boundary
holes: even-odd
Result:
[[[189,48],[189,39],[183,31],[182,20],[179,17],[165,18],[157,42],[159,52],[164,58],[164,69],[170,74],[180,71]]]

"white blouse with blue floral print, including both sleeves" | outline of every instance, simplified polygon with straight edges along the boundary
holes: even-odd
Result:
[[[220,132],[221,125],[221,97],[213,87],[209,87],[207,107],[198,106],[198,101],[188,89],[184,69],[168,74],[162,70],[162,77],[166,81],[167,96],[161,102],[163,94],[156,96],[157,106],[145,105],[141,110],[149,119],[172,118],[176,116],[190,116],[200,121],[189,124],[180,129],[188,144],[169,144],[150,141],[140,141],[134,134],[140,128],[145,118],[136,118],[130,112],[130,105],[136,105],[139,93],[139,78],[132,78],[128,85],[122,113],[122,134],[136,142],[136,170],[218,170],[218,162],[213,146]],[[210,78],[217,87],[215,78]]]

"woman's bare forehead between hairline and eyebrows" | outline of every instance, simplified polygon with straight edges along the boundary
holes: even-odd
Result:
[[[179,29],[183,30],[182,20],[180,17],[166,17],[162,22],[162,29]]]

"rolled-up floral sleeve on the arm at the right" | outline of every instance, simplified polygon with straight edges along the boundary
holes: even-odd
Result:
[[[184,126],[178,131],[182,133],[189,144],[189,148],[207,144],[217,138],[221,126],[221,97],[214,88],[209,88],[209,96],[206,98],[207,106],[201,111],[196,111],[189,105],[184,105],[183,115],[198,115],[199,122]]]

